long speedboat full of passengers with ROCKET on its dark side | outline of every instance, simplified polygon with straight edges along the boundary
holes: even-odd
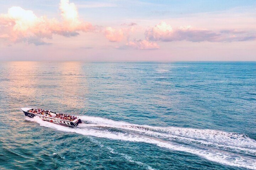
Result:
[[[37,108],[21,108],[25,116],[34,118],[35,116],[40,117],[44,121],[56,123],[59,125],[66,126],[77,126],[79,123],[82,123],[81,119],[77,116],[71,116],[62,113],[52,112],[50,110],[42,110]]]

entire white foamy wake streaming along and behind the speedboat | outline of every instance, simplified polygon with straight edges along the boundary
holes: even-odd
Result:
[[[26,119],[59,131],[155,144],[171,150],[196,154],[224,165],[256,170],[256,141],[245,134],[210,129],[136,125],[91,116],[80,116],[80,119],[88,124],[79,124],[77,128],[45,122],[39,117]]]

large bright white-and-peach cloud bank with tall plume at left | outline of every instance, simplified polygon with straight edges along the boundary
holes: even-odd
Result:
[[[69,0],[61,0],[59,4],[62,20],[37,17],[33,11],[21,7],[11,7],[7,14],[0,14],[0,38],[9,38],[12,42],[27,42],[45,45],[43,38],[52,39],[53,34],[66,37],[77,36],[79,31],[94,30],[90,23],[79,19],[77,8]],[[33,37],[33,41],[31,41]],[[35,41],[36,40],[36,41]]]

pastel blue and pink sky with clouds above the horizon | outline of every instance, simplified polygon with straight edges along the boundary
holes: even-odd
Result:
[[[0,61],[256,61],[256,0],[1,1]]]

